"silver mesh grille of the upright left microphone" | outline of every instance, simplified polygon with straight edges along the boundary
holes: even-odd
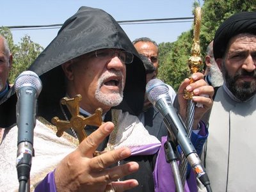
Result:
[[[22,72],[15,80],[15,91],[17,92],[23,85],[34,86],[39,95],[42,90],[42,82],[38,75],[30,70]]]

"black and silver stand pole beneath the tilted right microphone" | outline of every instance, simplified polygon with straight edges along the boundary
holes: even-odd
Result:
[[[164,143],[164,152],[165,152],[166,162],[170,163],[172,166],[172,173],[174,177],[176,191],[182,192],[184,191],[184,189],[183,189],[179,166],[178,166],[179,156],[177,156],[176,147],[173,141],[170,140],[169,136],[168,136],[168,140]]]

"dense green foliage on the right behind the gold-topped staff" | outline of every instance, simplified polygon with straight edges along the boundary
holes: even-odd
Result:
[[[194,6],[196,6],[196,3]],[[246,11],[256,11],[255,0],[204,1],[200,30],[200,47],[203,60],[207,45],[213,40],[215,31],[223,20],[234,13]],[[176,42],[159,44],[160,67],[158,77],[170,84],[176,91],[179,84],[190,74],[188,59],[191,56],[192,40],[193,26],[191,26],[191,30],[182,33]]]

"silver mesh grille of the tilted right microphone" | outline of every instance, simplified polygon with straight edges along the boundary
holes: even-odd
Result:
[[[148,100],[152,103],[157,101],[159,95],[168,95],[169,88],[160,79],[151,79],[146,85],[146,93]]]

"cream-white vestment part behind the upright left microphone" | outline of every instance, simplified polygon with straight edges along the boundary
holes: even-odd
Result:
[[[17,126],[5,129],[0,145],[0,191],[18,191],[19,181],[16,169],[17,157]],[[32,159],[30,171],[31,191],[47,173],[54,170],[63,157],[76,149],[65,138],[58,138],[56,132],[36,120],[33,148],[35,157]]]

